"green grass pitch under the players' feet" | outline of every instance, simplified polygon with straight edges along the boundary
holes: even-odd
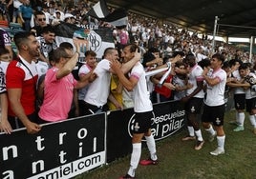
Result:
[[[157,142],[160,163],[158,166],[139,166],[136,171],[140,179],[256,179],[256,135],[245,117],[245,130],[234,132],[234,110],[225,114],[225,154],[212,156],[217,142],[209,143],[203,130],[203,149],[195,150],[195,141],[182,142],[186,129]],[[148,157],[148,150],[142,149],[141,158]],[[107,166],[85,172],[76,179],[115,179],[125,174],[129,167],[130,155],[118,159]]]

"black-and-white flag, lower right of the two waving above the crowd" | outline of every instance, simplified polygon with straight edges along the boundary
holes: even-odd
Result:
[[[127,12],[124,9],[117,9],[105,17],[105,21],[112,26],[123,27],[128,24]]]

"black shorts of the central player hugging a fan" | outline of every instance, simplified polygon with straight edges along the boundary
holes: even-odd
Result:
[[[133,122],[133,133],[145,133],[151,129],[152,119],[154,118],[153,111],[136,112]]]

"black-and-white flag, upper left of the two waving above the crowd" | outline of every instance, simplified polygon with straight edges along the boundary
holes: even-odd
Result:
[[[103,20],[107,15],[109,15],[109,10],[105,0],[100,0],[96,5],[87,12],[87,15],[95,17],[96,19]]]

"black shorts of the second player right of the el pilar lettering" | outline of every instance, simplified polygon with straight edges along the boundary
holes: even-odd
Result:
[[[225,110],[225,105],[209,107],[204,104],[202,122],[212,123],[214,126],[223,126],[224,110]]]

